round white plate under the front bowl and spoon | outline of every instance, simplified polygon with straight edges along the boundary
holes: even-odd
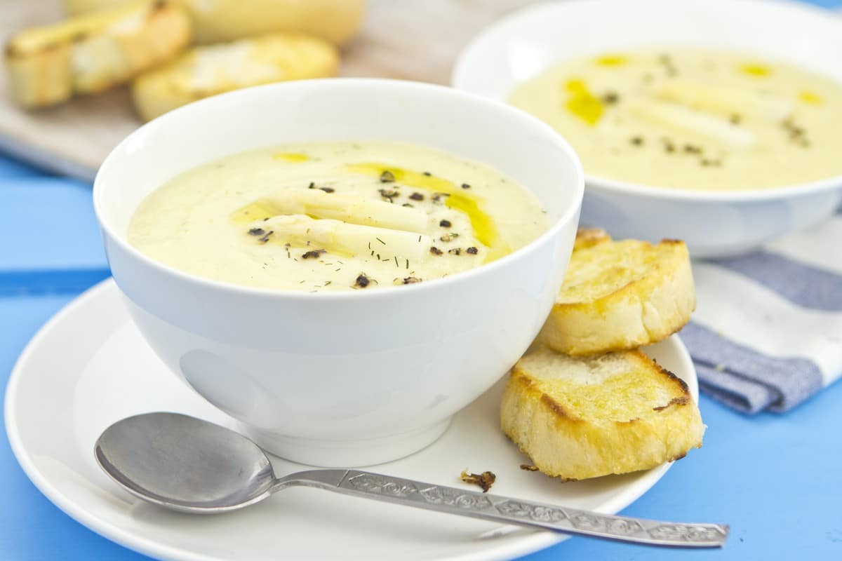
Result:
[[[676,336],[649,352],[697,397],[693,365]],[[457,414],[438,442],[376,470],[458,486],[463,468],[490,469],[498,476],[498,495],[616,513],[669,468],[568,484],[524,471],[520,463],[528,460],[498,428],[500,390],[498,384]],[[156,558],[493,559],[563,538],[312,489],[285,490],[226,515],[163,511],[120,490],[93,459],[93,443],[106,426],[153,410],[234,426],[165,370],[108,280],[69,304],[29,343],[9,379],[6,429],[26,474],[62,511]],[[279,474],[302,468],[280,458],[272,463]]]

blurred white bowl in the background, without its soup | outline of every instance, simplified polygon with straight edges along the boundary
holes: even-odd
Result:
[[[453,87],[504,101],[566,58],[636,47],[690,45],[756,53],[842,83],[842,18],[801,2],[568,0],[512,13],[461,51]],[[687,242],[694,257],[749,251],[828,218],[842,176],[781,188],[698,191],[626,183],[585,169],[582,220],[617,237]]]

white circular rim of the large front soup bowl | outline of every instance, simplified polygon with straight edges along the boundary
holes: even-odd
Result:
[[[300,88],[306,90],[307,88],[311,87],[376,87],[392,88],[393,90],[424,90],[429,93],[432,93],[433,95],[445,95],[456,98],[463,98],[472,103],[478,103],[487,108],[490,108],[493,111],[509,114],[510,116],[514,117],[514,119],[520,119],[522,123],[525,123],[525,126],[530,127],[533,130],[540,131],[541,135],[545,137],[546,140],[554,142],[559,151],[562,154],[564,154],[568,158],[568,160],[573,164],[573,173],[575,178],[572,182],[572,185],[570,186],[570,188],[573,188],[572,201],[568,205],[568,208],[562,209],[562,213],[557,217],[556,220],[552,222],[549,228],[547,228],[544,232],[541,233],[541,236],[536,237],[536,239],[530,241],[525,246],[522,246],[517,250],[512,251],[508,255],[501,257],[496,261],[484,263],[479,267],[473,267],[471,269],[467,269],[466,271],[461,271],[460,273],[448,275],[443,278],[433,278],[429,281],[424,281],[423,283],[413,283],[411,285],[401,286],[386,285],[377,287],[375,290],[349,289],[336,292],[317,293],[288,290],[282,288],[251,287],[248,285],[217,281],[211,278],[200,277],[192,273],[186,273],[175,267],[171,267],[163,262],[159,262],[156,259],[153,259],[152,257],[148,257],[146,254],[136,249],[135,246],[132,246],[125,239],[125,235],[120,235],[120,233],[115,229],[114,225],[112,225],[109,220],[105,219],[106,211],[103,208],[104,202],[102,200],[104,198],[104,190],[106,189],[104,187],[104,183],[106,181],[104,178],[105,173],[110,173],[111,168],[117,165],[115,164],[115,160],[123,156],[123,154],[126,152],[127,146],[131,146],[131,144],[133,144],[138,137],[140,137],[141,135],[146,135],[147,131],[151,130],[153,127],[162,126],[162,121],[170,119],[173,114],[189,114],[191,112],[212,113],[215,107],[224,106],[227,103],[231,103],[231,100],[233,98],[248,98],[249,96],[268,95],[269,93],[279,89],[290,90]],[[434,146],[429,147],[435,148]],[[232,152],[232,154],[236,153],[237,151]],[[530,114],[520,111],[520,109],[514,108],[508,103],[502,103],[493,99],[479,96],[474,93],[463,92],[453,87],[441,86],[438,84],[431,84],[426,82],[413,82],[408,80],[397,80],[390,78],[366,77],[316,78],[310,80],[296,80],[291,82],[276,82],[254,87],[246,87],[232,92],[221,93],[215,96],[211,96],[209,98],[200,99],[193,103],[188,103],[182,107],[173,109],[167,114],[163,114],[157,117],[156,119],[152,119],[148,123],[143,124],[136,130],[132,131],[130,135],[127,135],[123,140],[120,141],[120,143],[117,146],[115,146],[109,152],[109,155],[105,157],[103,163],[97,170],[96,177],[94,177],[93,181],[93,211],[96,215],[97,222],[99,223],[99,227],[103,231],[104,236],[113,241],[113,243],[119,246],[122,251],[130,255],[132,259],[141,262],[146,267],[152,268],[152,270],[156,271],[157,273],[177,278],[179,279],[179,281],[184,283],[195,283],[199,284],[203,288],[207,288],[210,290],[216,290],[232,294],[240,294],[242,296],[263,297],[271,299],[303,298],[308,300],[328,301],[337,299],[357,300],[371,298],[389,298],[395,295],[402,297],[402,294],[414,294],[421,291],[435,290],[439,287],[445,287],[454,283],[477,282],[476,280],[474,280],[475,278],[482,277],[483,275],[496,271],[501,267],[508,267],[509,263],[513,263],[520,260],[521,257],[525,256],[530,251],[535,251],[536,247],[543,246],[552,241],[552,239],[555,238],[561,230],[567,227],[569,223],[573,222],[573,220],[578,219],[578,213],[582,207],[583,198],[584,171],[582,168],[582,162],[579,161],[578,155],[575,151],[573,151],[573,147],[570,146],[568,141],[565,140],[562,137],[562,135],[559,135],[556,130],[552,129],[550,125],[541,121],[541,119],[537,119],[536,117],[533,117]]]

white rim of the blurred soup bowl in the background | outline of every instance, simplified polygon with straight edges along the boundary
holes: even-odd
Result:
[[[497,19],[493,24],[488,25],[479,33],[474,35],[472,39],[465,45],[456,56],[453,69],[450,72],[450,86],[455,89],[474,93],[468,89],[464,84],[466,75],[472,67],[470,59],[477,56],[477,52],[482,52],[482,46],[495,36],[503,34],[503,29],[520,20],[529,21],[530,19],[538,17],[546,17],[550,13],[564,13],[570,6],[580,3],[603,3],[614,4],[623,3],[623,0],[567,0],[566,2],[548,2],[532,4],[515,10],[512,13],[506,14],[503,18]],[[760,9],[784,9],[784,10],[798,10],[803,13],[810,13],[813,16],[827,19],[828,21],[838,24],[839,33],[842,33],[842,18],[830,12],[826,8],[820,8],[812,4],[803,2],[794,2],[792,0],[717,0],[711,2],[705,0],[706,3],[713,6],[724,6],[727,3],[741,3],[743,5],[750,5],[754,8]],[[698,0],[701,3],[701,0]],[[681,3],[674,2],[671,6],[681,6]],[[680,8],[679,8],[680,9]],[[550,16],[556,17],[556,16]],[[555,61],[563,60],[563,56],[558,57]],[[837,82],[839,82],[837,80]],[[842,87],[842,83],[839,83]],[[475,93],[483,98],[486,97],[480,93]],[[500,103],[506,103],[504,100],[493,99]],[[797,198],[799,196],[807,196],[814,193],[823,193],[824,191],[832,191],[834,189],[842,189],[842,173],[834,176],[823,177],[805,183],[791,183],[788,185],[781,185],[777,187],[768,188],[753,188],[753,189],[728,189],[727,191],[717,191],[713,189],[689,189],[682,187],[674,187],[669,185],[656,186],[647,183],[634,183],[595,175],[593,173],[584,172],[584,180],[589,188],[598,188],[609,191],[611,193],[624,195],[642,195],[648,198],[658,198],[663,200],[677,200],[677,201],[691,201],[699,203],[754,203],[754,202],[770,202],[785,198]]]

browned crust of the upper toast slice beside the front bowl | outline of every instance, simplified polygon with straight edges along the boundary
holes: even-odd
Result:
[[[588,266],[589,256],[617,243],[607,236],[594,241],[593,235],[588,241],[577,241],[570,267]],[[578,301],[557,300],[539,342],[573,356],[619,351],[662,341],[690,320],[695,309],[695,287],[684,242],[663,240],[655,246],[644,241],[621,243],[628,249],[623,251],[626,259],[642,262],[656,258],[639,265],[642,274],[612,288],[609,294]],[[570,273],[568,270],[568,278]]]

